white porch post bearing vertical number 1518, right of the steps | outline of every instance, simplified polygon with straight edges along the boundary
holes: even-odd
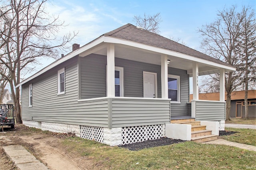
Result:
[[[198,63],[193,63],[193,100],[191,102],[191,117],[196,118],[196,100],[199,99],[198,92]]]

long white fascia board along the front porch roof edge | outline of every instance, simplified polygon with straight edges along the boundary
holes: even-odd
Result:
[[[136,42],[133,42],[133,41],[128,41],[128,40],[122,40],[122,39],[117,39],[117,38],[113,38],[113,37],[104,37],[104,42],[105,43],[116,43],[116,44],[123,44],[123,45],[128,45],[128,46],[132,46],[132,47],[137,47],[137,48],[140,48],[140,49],[146,49],[146,50],[149,50],[149,51],[154,51],[154,52],[157,52],[157,53],[162,53],[162,54],[166,54],[166,55],[171,55],[171,56],[174,56],[174,57],[179,57],[179,58],[182,58],[182,59],[186,59],[186,60],[190,60],[190,61],[196,61],[198,63],[204,63],[204,64],[209,64],[209,65],[212,65],[212,66],[216,66],[218,68],[224,68],[226,70],[232,70],[232,71],[235,71],[236,68],[232,67],[232,66],[226,66],[226,65],[222,65],[222,64],[219,64],[219,63],[215,63],[215,62],[212,62],[212,61],[208,61],[206,59],[200,59],[198,57],[194,57],[194,56],[190,56],[190,55],[186,55],[186,54],[182,54],[182,53],[179,53],[179,52],[176,52],[176,51],[171,51],[171,50],[167,50],[167,49],[162,49],[160,47],[153,47],[153,46],[150,46],[150,45],[145,45],[145,44],[141,44],[141,43],[136,43]]]

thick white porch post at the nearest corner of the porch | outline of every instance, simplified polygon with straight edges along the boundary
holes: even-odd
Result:
[[[110,44],[107,47],[107,97],[115,96],[115,47]]]

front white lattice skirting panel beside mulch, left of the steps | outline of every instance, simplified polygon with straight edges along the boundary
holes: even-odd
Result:
[[[163,137],[163,125],[122,127],[122,145]]]

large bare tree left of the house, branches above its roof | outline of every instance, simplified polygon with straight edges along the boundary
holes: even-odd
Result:
[[[6,0],[0,6],[0,61],[9,70],[1,75],[10,83],[16,109],[16,121],[20,116],[20,83],[22,70],[29,64],[39,64],[42,57],[57,58],[58,49],[65,50],[76,33],[58,38],[64,23],[45,11],[47,0]]]

